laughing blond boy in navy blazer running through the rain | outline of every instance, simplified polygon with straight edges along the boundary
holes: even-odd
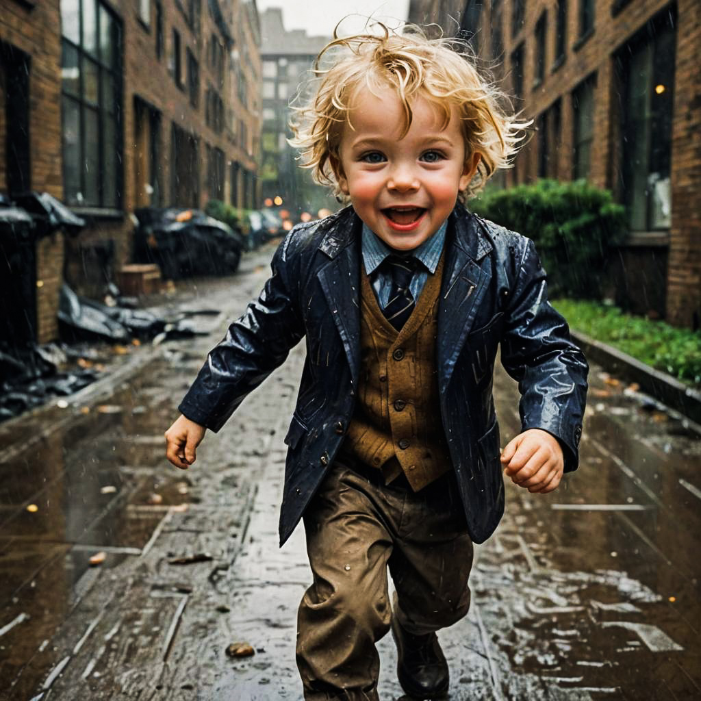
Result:
[[[305,338],[280,515],[281,543],[304,518],[313,571],[298,618],[304,697],[378,699],[375,643],[391,628],[402,688],[426,699],[448,689],[435,632],[468,611],[472,543],[503,514],[502,467],[541,494],[576,469],[587,364],[533,243],[458,203],[517,148],[524,125],[496,90],[418,32],[329,48],[339,55],[294,144],[351,206],[285,238],[180,404],[168,459],[191,465],[206,428]],[[501,461],[499,343],[522,394],[522,433]]]

